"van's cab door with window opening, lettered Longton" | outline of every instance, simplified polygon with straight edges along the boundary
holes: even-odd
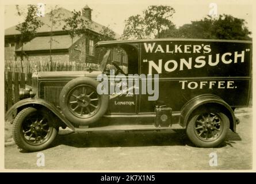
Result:
[[[137,70],[138,65],[137,52],[132,51],[132,48],[131,45],[122,45],[120,47],[113,47],[111,50],[106,66],[106,70],[112,70],[108,75],[109,87],[112,90],[109,97],[109,114],[137,113],[137,94],[134,93],[134,85],[129,85],[129,81],[139,80],[137,76],[128,75],[133,74],[135,72],[133,71],[134,66],[136,66]],[[121,72],[118,70],[118,67],[122,70]],[[116,89],[120,91],[116,91]]]

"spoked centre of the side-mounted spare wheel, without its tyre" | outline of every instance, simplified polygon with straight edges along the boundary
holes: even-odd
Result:
[[[89,118],[100,109],[100,98],[93,87],[89,85],[76,86],[68,94],[68,109],[74,116]]]

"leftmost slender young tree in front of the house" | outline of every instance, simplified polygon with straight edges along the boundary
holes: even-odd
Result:
[[[24,12],[19,9],[19,6],[16,5],[16,9],[18,11],[19,16],[24,16]],[[43,25],[38,19],[37,16],[37,6],[36,5],[28,5],[28,11],[25,15],[25,20],[21,24],[16,26],[16,30],[18,30],[20,35],[20,43],[21,43],[21,70],[22,68],[22,61],[23,61],[23,45],[25,42],[32,40],[36,36],[36,31]]]

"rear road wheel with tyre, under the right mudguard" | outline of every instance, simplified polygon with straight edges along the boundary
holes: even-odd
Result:
[[[197,147],[211,148],[225,140],[229,128],[226,114],[215,109],[201,110],[192,114],[186,134]]]

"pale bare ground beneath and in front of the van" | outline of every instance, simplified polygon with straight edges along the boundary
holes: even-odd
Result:
[[[94,132],[61,131],[51,148],[43,150],[45,166],[37,166],[39,152],[26,153],[12,144],[11,125],[5,127],[5,168],[58,170],[249,170],[252,168],[252,112],[238,109],[237,134],[230,131],[218,148],[194,147],[173,131]],[[211,153],[216,166],[210,166]],[[215,160],[215,161],[216,161]]]

